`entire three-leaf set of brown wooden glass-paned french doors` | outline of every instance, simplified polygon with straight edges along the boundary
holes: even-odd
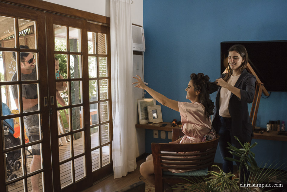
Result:
[[[30,191],[31,176],[40,174],[41,191],[80,191],[112,173],[110,28],[5,3],[0,3],[0,25],[4,28],[3,34],[0,29],[0,65],[4,69],[0,80],[2,103],[7,104],[10,111],[14,108],[19,111],[6,114],[2,104],[1,123],[3,127],[4,121],[10,120],[15,127],[19,119],[21,140],[12,147],[4,142],[0,144],[0,166],[5,168],[0,172],[0,189]],[[4,30],[11,33],[11,29],[14,29],[14,37],[11,34],[6,37]],[[29,49],[20,48],[22,44]],[[30,61],[21,60],[23,52],[34,56],[36,79],[22,78],[21,61]],[[55,58],[63,78],[55,78]],[[18,78],[11,81],[14,73]],[[37,88],[37,110],[23,110],[22,87],[26,84]],[[19,108],[10,88],[15,86]],[[39,119],[40,139],[27,142],[25,118],[32,115]],[[5,134],[2,130],[2,141]],[[30,152],[36,145],[40,145],[41,167],[31,172],[34,155]],[[12,162],[12,167],[6,168],[9,163],[6,155],[19,150],[17,163]],[[17,171],[15,166],[20,166]],[[9,178],[13,174],[15,176]]]

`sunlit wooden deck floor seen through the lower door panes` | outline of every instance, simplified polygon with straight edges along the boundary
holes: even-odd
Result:
[[[98,133],[92,134],[91,141],[92,143],[97,143],[98,141]],[[83,153],[83,141],[82,138],[74,140],[74,154],[81,154]],[[59,158],[60,161],[63,161],[71,156],[70,152],[70,142],[67,142],[66,144],[59,146]],[[108,150],[107,150],[108,151]],[[28,156],[26,159],[27,162],[27,170],[29,171],[30,169],[30,163],[32,160],[32,155]],[[19,170],[14,170],[13,174],[16,174],[18,177],[22,176],[22,161],[21,159],[19,160],[21,162],[21,167]],[[108,164],[110,161],[110,155],[108,153],[105,153],[105,150],[102,155],[102,162],[103,164]],[[74,161],[74,166],[75,166],[75,180],[79,180],[82,177],[85,177],[85,159],[83,157],[79,157],[75,159]],[[72,161],[69,161],[65,164],[60,165],[60,178],[61,178],[61,188],[65,187],[66,185],[69,185],[73,183],[73,176],[72,176]],[[92,170],[97,170],[100,167],[100,159],[99,159],[99,151],[95,150],[92,151]],[[31,191],[31,182],[30,179],[28,178],[27,180],[27,186],[28,186],[28,191]],[[42,175],[40,174],[40,180],[39,180],[39,187],[40,191],[43,191],[43,184],[42,184]],[[8,186],[8,191],[10,192],[20,192],[24,191],[24,181],[18,181],[14,185],[9,185]]]

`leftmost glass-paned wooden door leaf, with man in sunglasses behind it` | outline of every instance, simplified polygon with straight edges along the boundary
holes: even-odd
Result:
[[[44,17],[0,2],[1,191],[53,190]]]

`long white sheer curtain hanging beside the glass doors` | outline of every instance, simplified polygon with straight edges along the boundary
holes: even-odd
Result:
[[[114,178],[137,167],[130,0],[111,0],[111,90]]]

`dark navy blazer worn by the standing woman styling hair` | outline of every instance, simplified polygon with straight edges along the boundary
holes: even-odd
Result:
[[[221,74],[221,78],[223,78],[226,74]],[[252,124],[250,121],[248,105],[247,103],[252,103],[254,99],[255,93],[255,81],[256,77],[247,72],[246,69],[242,71],[237,82],[234,87],[240,89],[239,99],[236,95],[231,93],[228,110],[231,115],[231,126],[232,126],[232,134],[237,136],[241,143],[245,143],[251,140],[251,136],[253,135]],[[215,109],[214,116],[212,120],[212,126],[215,131],[218,133],[220,126],[219,119],[219,95],[220,95],[221,86],[218,86],[216,100],[215,100]],[[215,92],[214,89],[210,92]]]

